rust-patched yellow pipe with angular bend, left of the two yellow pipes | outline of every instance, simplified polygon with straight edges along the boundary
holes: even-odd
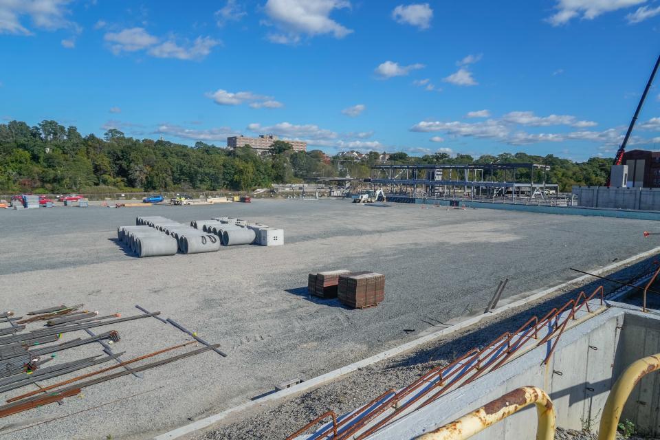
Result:
[[[536,404],[538,418],[536,440],[553,440],[555,437],[555,410],[550,397],[536,386],[517,388],[460,419],[417,437],[417,440],[468,439],[531,404]]]

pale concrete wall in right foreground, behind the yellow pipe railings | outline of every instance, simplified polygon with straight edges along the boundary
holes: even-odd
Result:
[[[558,426],[575,430],[588,428],[595,432],[610,388],[624,368],[617,368],[616,365],[628,366],[632,360],[643,357],[643,353],[637,353],[640,342],[637,346],[630,343],[633,339],[640,341],[640,335],[637,334],[639,332],[635,333],[635,327],[628,325],[630,321],[625,321],[629,314],[638,312],[610,308],[566,331],[548,365],[542,365],[541,361],[545,358],[549,345],[538,347],[500,367],[498,371],[452,391],[432,404],[395,421],[377,432],[373,438],[415,438],[525,385],[538,386],[550,394]],[[654,332],[654,329],[660,326],[658,318],[649,317],[646,321],[641,318],[641,321],[635,319],[634,322],[641,322],[638,327],[643,331]],[[628,330],[631,333],[626,334]],[[620,338],[621,334],[626,334],[624,339]],[[657,336],[654,343],[660,343],[660,333]],[[643,340],[644,338],[641,339]],[[619,341],[622,342],[619,344]],[[652,351],[653,347],[653,343],[650,343],[648,349]],[[654,393],[660,393],[657,386]],[[654,395],[654,399],[656,398]],[[632,399],[631,396],[630,401]],[[653,403],[648,405],[647,410],[657,408],[657,400],[649,401]],[[637,418],[646,417],[639,408],[632,408],[632,412]],[[632,415],[628,415],[628,418],[630,417]],[[523,440],[531,439],[535,434],[536,409],[532,405],[472,438]]]

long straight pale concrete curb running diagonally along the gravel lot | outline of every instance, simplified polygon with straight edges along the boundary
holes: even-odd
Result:
[[[652,256],[653,254],[657,254],[660,252],[660,247],[654,248],[652,250],[642,252],[641,254],[637,254],[634,256],[631,256],[628,259],[619,261],[617,263],[608,265],[606,267],[602,267],[599,270],[593,271],[593,274],[602,274],[604,272],[609,272],[611,270],[617,269],[617,267],[621,267],[624,265],[627,265],[628,263],[633,263],[635,261],[645,259],[649,256]],[[484,318],[490,318],[492,316],[496,316],[498,314],[501,314],[505,311],[508,311],[509,309],[513,309],[515,307],[520,307],[521,305],[525,305],[527,303],[531,303],[533,301],[536,301],[544,296],[547,296],[548,294],[551,294],[558,289],[562,289],[563,287],[566,287],[567,285],[571,285],[573,283],[581,283],[582,281],[586,281],[593,278],[590,275],[582,275],[578,276],[577,278],[573,278],[571,281],[566,281],[565,283],[561,283],[559,285],[550,287],[549,289],[545,289],[542,292],[538,292],[536,294],[533,294],[531,296],[527,296],[526,298],[522,298],[519,300],[514,300],[512,303],[509,303],[507,305],[503,305],[501,307],[498,307],[497,309],[494,309],[491,313],[489,314],[482,314],[478,316],[472,316],[471,318],[467,318],[465,320],[462,320],[461,322],[457,323],[456,325],[452,325],[451,327],[448,327],[446,329],[442,329],[439,331],[435,331],[433,333],[429,333],[426,336],[422,336],[421,338],[417,338],[415,340],[412,340],[410,342],[406,342],[405,344],[401,344],[398,347],[395,347],[393,349],[389,349],[386,351],[383,351],[382,353],[378,353],[376,355],[373,355],[369,358],[365,358],[363,360],[360,360],[358,362],[354,362],[353,364],[349,364],[347,366],[342,366],[340,369],[336,369],[333,371],[329,371],[328,373],[322,374],[320,376],[314,377],[310,380],[306,380],[305,382],[301,382],[300,384],[294,385],[290,388],[286,388],[285,390],[278,391],[276,393],[272,393],[270,395],[261,397],[261,399],[256,399],[254,401],[248,401],[245,402],[245,404],[239,405],[239,406],[234,406],[234,408],[229,408],[227,410],[224,410],[222,412],[219,412],[218,414],[215,415],[210,415],[208,417],[205,417],[203,419],[199,419],[197,421],[193,421],[192,423],[189,423],[188,425],[180,426],[179,428],[176,428],[174,430],[171,430],[169,432],[165,432],[164,434],[159,434],[156,437],[154,437],[154,440],[171,440],[171,439],[177,439],[181,436],[184,436],[186,434],[190,434],[190,432],[194,432],[197,430],[201,430],[203,428],[207,428],[208,426],[212,425],[213,423],[217,423],[218,421],[221,421],[225,417],[227,417],[230,414],[233,414],[235,412],[240,412],[243,410],[247,410],[248,408],[253,408],[254,406],[259,406],[261,404],[271,402],[271,401],[276,401],[278,399],[283,399],[284,397],[289,397],[292,395],[296,395],[298,393],[303,393],[304,391],[308,391],[311,388],[316,388],[318,386],[321,386],[323,384],[326,384],[327,382],[331,382],[333,380],[338,379],[339,377],[342,377],[344,375],[347,375],[349,373],[352,373],[353,371],[356,371],[358,369],[364,368],[365,366],[369,366],[371,364],[375,364],[376,362],[380,362],[382,360],[386,360],[388,358],[393,358],[397,355],[401,355],[402,353],[406,353],[407,351],[411,351],[417,347],[419,347],[422,344],[426,344],[427,342],[430,342],[432,340],[436,340],[438,338],[441,338],[443,336],[446,336],[450,333],[454,333],[456,331],[465,329],[467,327],[470,327]]]

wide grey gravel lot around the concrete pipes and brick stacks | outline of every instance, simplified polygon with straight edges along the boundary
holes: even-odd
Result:
[[[283,228],[286,244],[137,259],[115,240],[117,226],[135,224],[136,215],[182,222],[229,215]],[[325,199],[0,210],[0,225],[0,309],[24,314],[85,303],[100,314],[129,316],[139,304],[221,343],[229,354],[203,353],[147,371],[142,379],[126,376],[87,388],[63,406],[8,417],[4,426],[19,426],[123,399],[3,439],[148,438],[272,391],[274,384],[326,373],[483,310],[503,278],[509,278],[503,298],[531,294],[575,278],[569,267],[602,267],[657,244],[641,234],[657,229],[652,221]],[[385,274],[385,302],[360,311],[307,298],[308,272],[341,268]],[[115,351],[126,351],[125,359],[186,340],[153,318],[97,332],[111,328],[122,336]],[[83,350],[73,352],[60,359],[83,357]],[[87,352],[98,354],[100,346],[85,347]],[[434,359],[417,364],[426,370],[441,362]],[[410,382],[409,373],[401,375]],[[360,393],[354,399],[363,401]]]

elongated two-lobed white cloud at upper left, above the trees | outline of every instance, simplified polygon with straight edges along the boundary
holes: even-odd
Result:
[[[220,44],[210,36],[198,36],[192,44],[179,45],[173,39],[161,42],[157,36],[144,28],[129,28],[120,32],[107,32],[104,40],[110,45],[113,54],[147,50],[157,58],[177,58],[179,60],[200,60],[210,54],[213,47]]]

